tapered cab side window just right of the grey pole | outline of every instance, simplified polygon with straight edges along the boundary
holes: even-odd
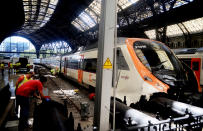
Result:
[[[119,70],[129,70],[129,66],[123,56],[121,48],[117,48],[117,66]]]

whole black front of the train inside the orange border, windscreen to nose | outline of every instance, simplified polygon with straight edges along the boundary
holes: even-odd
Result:
[[[154,76],[173,87],[170,88],[171,92],[176,91],[180,86],[186,90],[195,89],[193,85],[196,85],[194,84],[196,80],[193,74],[183,68],[174,53],[164,44],[151,40],[140,40],[134,42],[133,48],[139,60]],[[190,77],[187,74],[190,74]]]

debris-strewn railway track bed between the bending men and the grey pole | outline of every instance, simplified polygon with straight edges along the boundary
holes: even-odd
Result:
[[[88,91],[72,81],[69,83],[69,81],[59,77],[53,77],[44,67],[40,66],[39,68],[41,68],[38,72],[40,75],[47,75],[45,86],[49,90],[51,99],[65,105],[67,107],[67,114],[72,112],[75,119],[75,129],[78,123],[80,123],[83,129],[89,130],[89,127],[93,124],[94,102],[89,100]],[[71,92],[72,94],[67,92]],[[85,117],[84,106],[81,106],[83,104],[88,107]]]

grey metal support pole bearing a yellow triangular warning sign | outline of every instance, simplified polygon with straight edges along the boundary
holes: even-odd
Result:
[[[112,95],[113,49],[116,32],[116,0],[103,0],[99,24],[94,128],[109,130],[110,97]]]

